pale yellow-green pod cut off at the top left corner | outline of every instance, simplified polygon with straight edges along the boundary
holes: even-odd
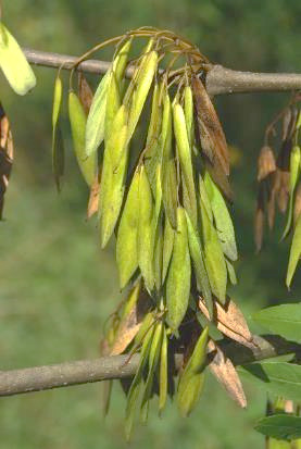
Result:
[[[3,23],[0,23],[0,67],[16,93],[25,95],[36,86],[30,65]]]

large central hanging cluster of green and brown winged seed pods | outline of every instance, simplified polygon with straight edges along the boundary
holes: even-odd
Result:
[[[137,54],[135,43],[146,38]],[[93,96],[80,77],[78,95],[70,90],[68,113],[91,191],[88,215],[98,212],[102,248],[115,235],[120,285],[130,286],[103,341],[105,354],[140,352],[138,371],[124,385],[129,436],[138,407],[145,422],[153,394],[160,412],[173,396],[171,360],[178,352],[176,397],[183,415],[201,395],[208,352],[218,359],[211,358],[212,373],[246,407],[236,370],[208,324],[242,345],[253,344],[243,315],[226,295],[228,280],[236,284],[237,247],[227,207],[227,144],[203,84],[209,61],[171,32],[139,28],[97,46],[78,63],[106,43],[116,43],[110,68]],[[59,73],[52,117],[59,188],[62,91]]]

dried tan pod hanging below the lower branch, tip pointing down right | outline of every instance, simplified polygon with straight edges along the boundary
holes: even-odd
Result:
[[[210,371],[223,385],[229,397],[244,409],[247,407],[246,395],[233,362],[213,340],[209,340],[208,347],[210,351],[215,352],[209,365]]]

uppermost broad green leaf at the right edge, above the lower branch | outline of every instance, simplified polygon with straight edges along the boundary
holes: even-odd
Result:
[[[301,304],[280,304],[253,313],[252,319],[273,334],[301,342]]]

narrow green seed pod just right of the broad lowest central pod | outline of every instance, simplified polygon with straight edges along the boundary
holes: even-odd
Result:
[[[197,278],[197,286],[199,291],[202,294],[210,316],[212,316],[213,305],[212,305],[212,294],[210,288],[209,277],[205,271],[205,265],[203,261],[203,252],[201,247],[201,240],[198,233],[195,230],[189,215],[186,213],[187,229],[188,229],[188,241],[190,255],[195,266],[195,275]]]

